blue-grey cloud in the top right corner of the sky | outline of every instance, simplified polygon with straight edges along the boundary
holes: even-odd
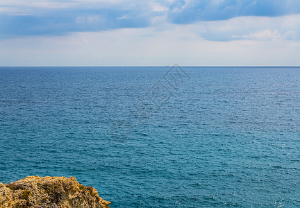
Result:
[[[297,0],[178,0],[169,9],[169,21],[190,24],[242,16],[278,17],[299,14]]]

